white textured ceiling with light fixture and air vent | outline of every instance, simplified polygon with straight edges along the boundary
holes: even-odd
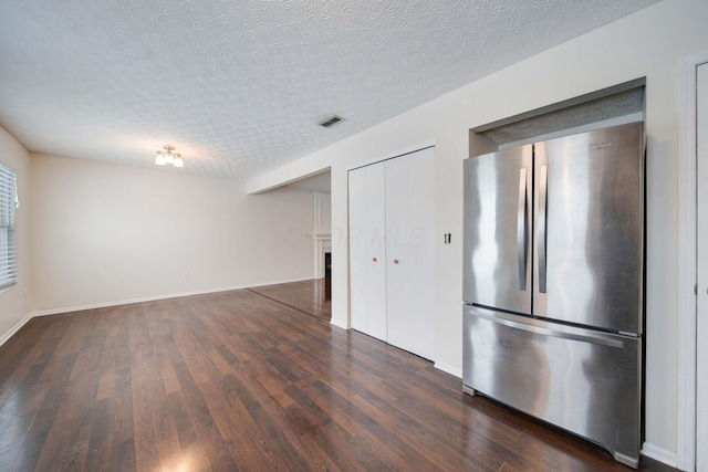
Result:
[[[0,126],[247,180],[656,1],[2,1]]]

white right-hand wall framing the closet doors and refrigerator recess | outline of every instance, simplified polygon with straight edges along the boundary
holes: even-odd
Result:
[[[470,83],[250,181],[249,192],[332,168],[332,322],[348,325],[346,170],[437,139],[436,365],[459,373],[462,159],[470,128],[637,77],[647,77],[647,344],[645,452],[671,463],[676,444],[677,127],[679,59],[708,49],[708,2],[664,0]],[[337,234],[341,234],[337,238]],[[684,287],[691,290],[691,287]]]

